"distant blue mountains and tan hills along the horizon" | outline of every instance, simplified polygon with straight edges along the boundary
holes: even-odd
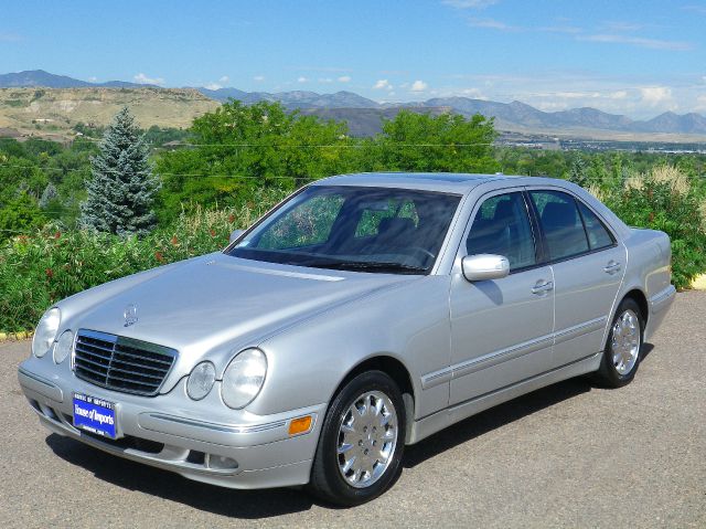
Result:
[[[83,89],[84,92],[44,95],[35,100],[28,93],[13,99],[7,89],[42,87],[52,89]],[[9,130],[26,130],[28,119],[64,120],[66,124],[75,120],[95,123],[105,121],[115,108],[116,102],[135,105],[143,114],[143,126],[180,126],[185,127],[191,118],[206,108],[215,108],[218,103],[228,98],[239,99],[246,104],[260,100],[280,102],[288,109],[299,109],[304,114],[313,114],[323,118],[345,120],[351,134],[370,136],[381,130],[382,118],[394,117],[400,109],[413,112],[459,113],[464,116],[482,114],[494,117],[499,129],[522,134],[544,134],[564,137],[603,138],[603,139],[650,139],[660,136],[660,140],[703,140],[706,136],[706,117],[699,114],[678,115],[664,113],[649,120],[633,120],[627,116],[609,114],[596,108],[584,107],[560,112],[543,112],[522,102],[499,103],[469,97],[435,97],[422,102],[399,104],[379,104],[353,92],[336,92],[334,94],[319,94],[308,91],[291,92],[245,92],[226,87],[218,89],[197,88],[161,88],[140,85],[124,81],[106,83],[88,83],[64,75],[55,75],[43,70],[33,70],[0,75],[0,127]],[[110,92],[100,92],[105,89]],[[145,91],[126,93],[124,91]],[[95,91],[95,92],[92,92]],[[160,95],[160,93],[162,93]],[[68,95],[67,95],[68,94]],[[140,97],[145,97],[141,100]],[[53,98],[54,103],[49,104]],[[64,103],[60,102],[63,100]],[[62,105],[64,105],[62,107]],[[25,108],[20,112],[19,108]],[[45,117],[45,108],[52,108],[55,117]],[[61,108],[61,109],[60,109]],[[75,110],[75,109],[78,110]],[[61,115],[61,118],[58,117]],[[81,116],[81,118],[78,117]],[[15,128],[12,124],[21,126]],[[51,121],[47,121],[51,123]]]

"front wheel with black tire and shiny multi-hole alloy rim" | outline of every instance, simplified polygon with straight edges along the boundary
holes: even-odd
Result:
[[[366,404],[375,405],[359,408],[363,398],[367,398]],[[361,409],[372,410],[377,409],[378,405],[383,406],[379,414],[360,413]],[[353,406],[359,410],[355,417],[352,415]],[[355,422],[356,420],[359,422]],[[388,422],[381,425],[385,421]],[[345,432],[344,422],[347,429]],[[373,432],[373,426],[376,432]],[[363,433],[364,427],[367,433]],[[388,437],[392,431],[395,435],[394,442]],[[402,469],[405,431],[405,405],[395,381],[382,371],[359,374],[339,391],[329,406],[311,469],[309,490],[328,502],[347,507],[376,498],[394,483]],[[391,442],[392,445],[389,445]],[[339,446],[343,445],[347,451],[339,454]],[[384,449],[389,454],[385,464],[381,463],[381,459],[375,459],[376,456],[368,456],[368,454],[379,455]],[[346,478],[343,468],[352,454],[360,456],[360,465],[352,463],[347,470],[350,477]],[[361,472],[360,479],[356,480],[356,468],[366,464],[372,465],[371,470]],[[379,474],[375,475],[376,473]],[[370,476],[367,479],[370,485],[365,485],[365,476]]]

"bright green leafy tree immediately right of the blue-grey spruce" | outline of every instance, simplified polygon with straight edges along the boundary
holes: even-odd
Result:
[[[279,103],[229,100],[194,119],[197,147],[163,152],[160,220],[182,208],[246,202],[259,188],[293,190],[341,172],[352,140],[345,125],[287,112]]]

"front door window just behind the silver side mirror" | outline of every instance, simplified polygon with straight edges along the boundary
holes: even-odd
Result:
[[[466,250],[468,255],[504,255],[511,271],[535,264],[532,226],[522,193],[486,199],[473,219]]]

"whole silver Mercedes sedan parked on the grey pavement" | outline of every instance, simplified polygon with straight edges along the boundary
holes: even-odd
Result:
[[[86,445],[355,505],[450,424],[571,377],[630,382],[670,260],[664,233],[561,180],[333,177],[223,252],[57,303],[19,380]]]

